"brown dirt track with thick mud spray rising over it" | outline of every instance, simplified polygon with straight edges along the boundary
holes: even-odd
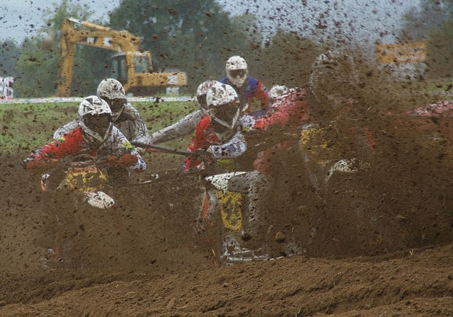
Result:
[[[318,187],[297,131],[273,150],[265,225],[243,242],[274,260],[233,265],[200,220],[199,175],[134,179],[112,209],[68,210],[25,153],[1,155],[0,316],[452,316],[452,123],[359,111],[316,136],[365,163]]]

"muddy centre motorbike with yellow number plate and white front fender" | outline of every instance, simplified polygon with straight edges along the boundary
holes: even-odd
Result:
[[[263,140],[258,143],[263,145]],[[193,186],[198,188],[195,201],[199,203],[198,207],[195,207],[197,211],[194,213],[195,219],[198,219],[195,229],[203,232],[200,243],[210,248],[216,261],[235,263],[268,260],[270,258],[270,255],[265,254],[264,248],[251,250],[241,246],[242,236],[249,224],[248,178],[250,178],[250,175],[256,174],[256,171],[226,172],[216,160],[212,159],[209,153],[201,150],[197,153],[191,153],[148,144],[134,145],[147,149],[147,151],[159,151],[182,156],[195,155],[202,162],[200,166],[203,167],[200,170],[183,173],[182,175],[164,175],[157,180],[149,180],[148,184],[157,185],[160,182],[165,182],[168,178],[178,179],[179,182],[183,178],[196,179]],[[236,183],[236,185],[231,186],[231,183]]]

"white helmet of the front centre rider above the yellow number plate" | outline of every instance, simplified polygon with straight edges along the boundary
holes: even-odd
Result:
[[[238,122],[241,110],[239,97],[233,87],[217,83],[206,93],[207,112],[220,125],[233,129]]]

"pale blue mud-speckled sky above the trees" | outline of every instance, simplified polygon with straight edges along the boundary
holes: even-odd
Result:
[[[105,16],[120,0],[70,0],[87,5],[95,17]],[[420,0],[217,0],[227,11],[258,16],[262,26],[273,33],[277,26],[303,36],[358,41],[372,45],[375,40],[395,42],[401,17]],[[0,40],[13,38],[21,44],[26,36],[42,27],[42,10],[59,0],[5,0],[0,4]],[[317,25],[317,27],[315,27]]]

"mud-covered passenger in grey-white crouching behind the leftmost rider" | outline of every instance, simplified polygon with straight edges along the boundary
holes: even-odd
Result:
[[[97,95],[105,100],[112,110],[113,124],[120,129],[130,142],[149,144],[150,137],[142,116],[137,109],[127,102],[125,89],[116,79],[103,79],[98,85]],[[54,133],[54,139],[59,139],[69,131],[79,126],[78,118],[59,127]]]

